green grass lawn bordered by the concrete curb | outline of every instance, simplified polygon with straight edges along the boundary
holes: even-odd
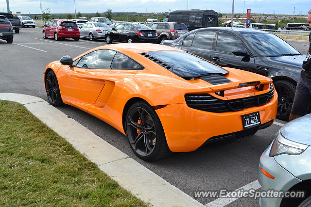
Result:
[[[146,206],[21,104],[0,100],[0,206]]]

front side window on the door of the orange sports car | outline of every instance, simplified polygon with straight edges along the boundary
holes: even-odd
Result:
[[[116,51],[99,49],[83,56],[76,67],[90,69],[110,69]]]

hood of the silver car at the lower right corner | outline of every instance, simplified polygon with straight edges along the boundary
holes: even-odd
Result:
[[[280,132],[288,140],[311,145],[311,114],[287,123]]]

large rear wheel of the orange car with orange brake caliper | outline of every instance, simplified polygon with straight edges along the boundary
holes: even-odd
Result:
[[[138,158],[153,161],[171,154],[160,119],[149,104],[134,103],[127,111],[125,122],[129,145]]]

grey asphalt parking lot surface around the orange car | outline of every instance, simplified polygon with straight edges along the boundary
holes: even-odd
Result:
[[[38,96],[47,100],[43,72],[48,63],[64,55],[75,57],[105,45],[104,40],[90,42],[80,39],[75,42],[68,39],[56,42],[50,38],[43,39],[41,31],[42,28],[22,28],[20,33],[14,34],[13,44],[0,40],[0,92]],[[306,54],[308,42],[288,42]],[[127,138],[113,127],[68,105],[58,109],[192,197],[194,191],[235,190],[257,180],[259,157],[280,128],[274,124],[234,143],[210,144],[195,152],[175,153],[166,159],[145,162],[135,156]],[[207,204],[217,198],[196,199]],[[259,205],[257,200],[240,198],[228,206]]]

